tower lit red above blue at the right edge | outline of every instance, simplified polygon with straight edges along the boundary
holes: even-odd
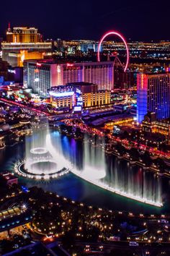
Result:
[[[143,121],[148,111],[158,120],[170,117],[170,73],[138,74],[137,120]]]

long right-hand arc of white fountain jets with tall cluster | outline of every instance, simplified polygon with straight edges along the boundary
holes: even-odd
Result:
[[[89,142],[86,142],[88,140]],[[125,162],[127,166],[121,166],[120,160],[115,159],[116,161],[112,163],[112,158],[106,158],[104,141],[99,143],[97,140],[86,137],[84,166],[81,169],[74,167],[71,171],[87,182],[110,192],[161,207],[160,178],[154,176],[151,179],[146,179],[146,175],[149,176],[149,173],[146,174],[142,168],[135,173],[129,166],[130,163]]]

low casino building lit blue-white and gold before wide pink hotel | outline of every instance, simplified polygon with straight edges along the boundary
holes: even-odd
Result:
[[[55,108],[79,109],[101,108],[110,105],[110,91],[98,90],[89,82],[70,82],[48,90],[50,103]]]

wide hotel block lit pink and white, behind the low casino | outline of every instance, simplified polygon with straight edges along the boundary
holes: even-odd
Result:
[[[34,93],[46,95],[53,86],[68,82],[91,82],[99,90],[111,90],[114,80],[112,61],[55,63],[53,60],[24,61],[24,87]]]

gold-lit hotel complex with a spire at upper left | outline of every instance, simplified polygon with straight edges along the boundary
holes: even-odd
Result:
[[[1,43],[2,59],[12,67],[22,67],[24,59],[42,59],[52,52],[53,43],[43,42],[35,27],[14,27],[6,31],[6,42]]]

